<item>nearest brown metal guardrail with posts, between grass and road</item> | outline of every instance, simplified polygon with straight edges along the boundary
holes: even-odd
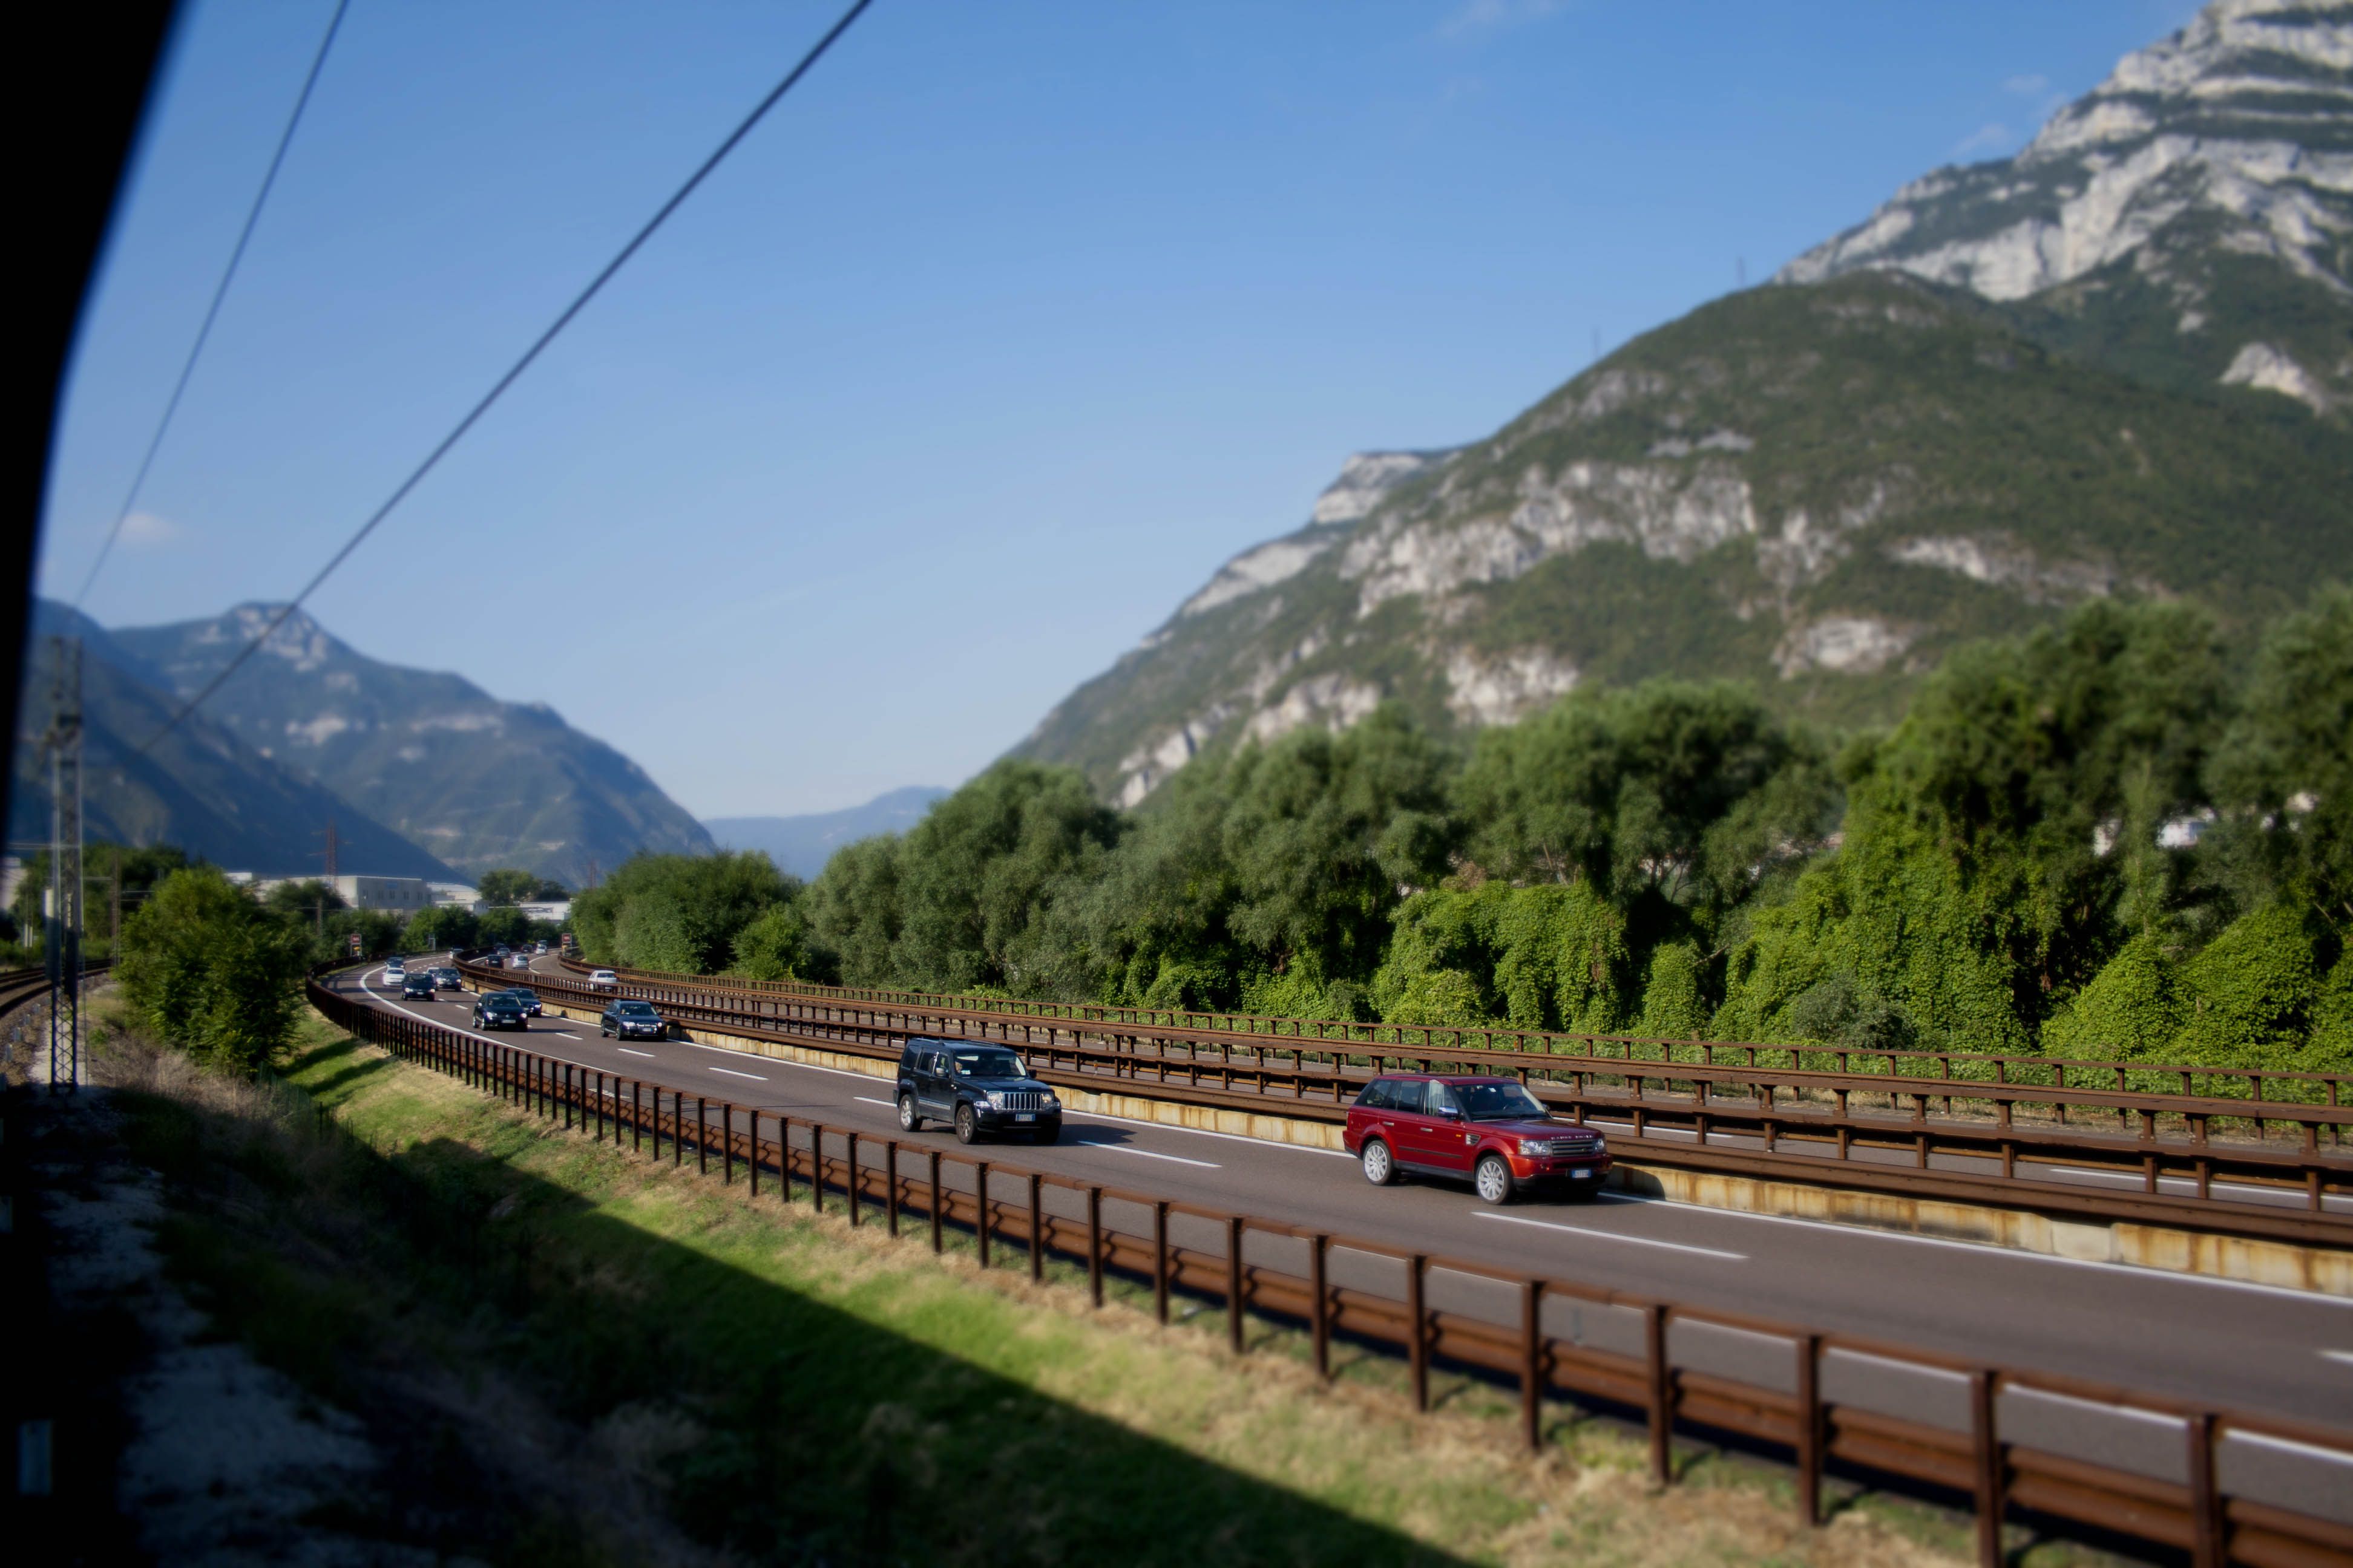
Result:
[[[1438,1363],[1515,1380],[1529,1448],[1544,1446],[1544,1399],[1555,1396],[1638,1413],[1659,1483],[1675,1481],[1678,1429],[1786,1453],[1807,1523],[1821,1521],[1821,1481],[1833,1465],[1969,1495],[1981,1563],[2002,1561],[2000,1530],[2014,1512],[2188,1552],[2198,1568],[2353,1561],[2353,1509],[2329,1507],[2353,1495],[2348,1432],[1513,1274],[939,1147],[908,1150],[896,1138],[666,1091],[386,1013],[318,980],[311,1004],[360,1039],[567,1131],[609,1138],[616,1152],[626,1138],[633,1154],[659,1161],[668,1145],[680,1166],[692,1147],[696,1171],[708,1175],[715,1159],[729,1185],[741,1166],[753,1199],[762,1173],[786,1204],[798,1180],[812,1208],[840,1194],[852,1225],[880,1211],[899,1234],[920,1218],[934,1251],[946,1227],[967,1229],[984,1267],[993,1248],[1019,1246],[1031,1279],[1059,1255],[1087,1269],[1096,1302],[1106,1274],[1148,1281],[1162,1324],[1174,1293],[1217,1300],[1235,1354],[1247,1352],[1249,1316],[1259,1316],[1304,1326],[1327,1378],[1337,1338],[1402,1354],[1417,1408],[1428,1408]],[[774,1135],[762,1135],[762,1121]],[[1727,1335],[1751,1349],[1779,1345],[1781,1375],[1727,1371],[1711,1356]],[[1920,1399],[1873,1394],[1873,1378],[1889,1375],[1937,1389],[1929,1406],[1953,1406],[1958,1394],[1960,1420],[1939,1420]],[[2054,1410],[2101,1413],[2144,1439],[2148,1422],[2169,1427],[2172,1460],[2085,1458]],[[2308,1467],[2301,1479],[2299,1462]]]

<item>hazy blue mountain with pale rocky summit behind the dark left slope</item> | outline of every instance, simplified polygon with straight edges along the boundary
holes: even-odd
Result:
[[[202,689],[275,607],[115,630],[165,691]],[[207,703],[212,722],[325,785],[471,879],[520,865],[581,886],[638,849],[708,853],[711,835],[635,762],[546,703],[501,703],[459,675],[367,658],[306,614]],[[346,858],[358,867],[358,858]],[[369,867],[374,870],[374,867]]]

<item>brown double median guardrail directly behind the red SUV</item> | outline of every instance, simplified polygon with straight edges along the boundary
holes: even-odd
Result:
[[[478,985],[518,980],[511,971],[461,969]],[[1421,1056],[1360,1041],[1315,1048],[1304,1039],[1186,1037],[1068,1018],[748,994],[645,976],[616,987],[546,973],[529,983],[574,1004],[640,997],[685,1025],[868,1058],[894,1058],[915,1034],[991,1039],[1019,1046],[1052,1084],[1311,1121],[1341,1121],[1348,1100],[1379,1072],[1511,1072],[1574,1121],[1631,1121],[1633,1135],[1614,1138],[1635,1161],[2353,1246],[2353,1215],[2325,1206],[2329,1194],[2353,1190],[2353,1152],[2344,1147],[2353,1107],[1475,1048]],[[2087,1126],[2087,1114],[2113,1114],[2118,1131]],[[2252,1135],[2226,1135],[2231,1126]],[[2289,1133],[2285,1140],[2273,1135],[2280,1128]],[[1760,1147],[1725,1147],[1727,1140]],[[1974,1157],[1981,1171],[1932,1168],[1934,1154]],[[2059,1166],[2111,1173],[2139,1192],[2052,1180]],[[2169,1194],[2167,1182],[2186,1182],[2195,1197]],[[2280,1201],[2240,1201],[2233,1192],[2301,1199],[2304,1213]]]

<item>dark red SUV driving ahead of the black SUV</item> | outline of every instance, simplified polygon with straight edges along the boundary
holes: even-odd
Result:
[[[1374,1079],[1348,1107],[1341,1140],[1374,1187],[1388,1187],[1400,1171],[1468,1175],[1489,1204],[1537,1185],[1591,1197],[1609,1171],[1598,1131],[1553,1121],[1515,1079]]]

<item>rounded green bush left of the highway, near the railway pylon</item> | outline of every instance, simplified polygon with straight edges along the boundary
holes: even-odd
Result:
[[[169,872],[122,922],[122,992],[188,1053],[254,1072],[287,1044],[311,933],[212,867]]]

